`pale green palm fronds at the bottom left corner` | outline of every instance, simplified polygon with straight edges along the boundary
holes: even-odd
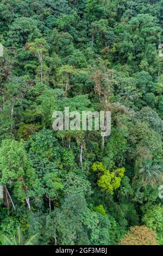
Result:
[[[2,245],[36,245],[39,233],[31,236],[27,241],[23,236],[20,227],[17,228],[17,234],[14,237],[2,235]]]

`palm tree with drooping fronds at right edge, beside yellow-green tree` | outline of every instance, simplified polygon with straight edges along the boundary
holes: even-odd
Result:
[[[146,164],[140,169],[142,182],[149,185],[159,184],[163,179],[163,169],[159,165]]]

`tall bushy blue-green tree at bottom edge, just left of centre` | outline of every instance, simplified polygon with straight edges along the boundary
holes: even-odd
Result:
[[[61,209],[55,209],[47,216],[46,236],[55,245],[74,245],[83,231],[82,215],[87,205],[82,194],[66,197]]]

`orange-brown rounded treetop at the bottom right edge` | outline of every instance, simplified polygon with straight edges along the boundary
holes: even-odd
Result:
[[[121,245],[157,245],[157,241],[153,230],[135,226],[121,239]]]

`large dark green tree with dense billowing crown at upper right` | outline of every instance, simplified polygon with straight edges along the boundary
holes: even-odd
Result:
[[[154,74],[156,72],[156,44],[159,44],[160,32],[161,29],[156,17],[149,14],[133,16],[128,25],[124,26],[123,30],[118,33],[120,42],[116,48],[120,62],[127,62],[137,72],[139,70],[134,66],[136,58],[136,63],[140,65],[143,71]],[[154,36],[155,33],[156,37]],[[145,65],[142,65],[142,60],[144,64],[146,63]]]

